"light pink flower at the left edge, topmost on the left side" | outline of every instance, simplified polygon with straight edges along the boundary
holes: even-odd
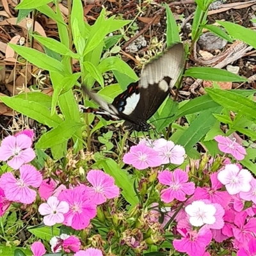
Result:
[[[35,158],[35,152],[31,148],[32,140],[25,134],[8,136],[3,139],[0,147],[0,161],[17,170],[24,163],[29,163]]]

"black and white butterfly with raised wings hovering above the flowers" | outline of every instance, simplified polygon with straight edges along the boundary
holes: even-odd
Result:
[[[107,120],[125,120],[126,130],[148,131],[147,120],[156,113],[170,89],[175,85],[184,67],[183,45],[172,45],[160,57],[154,58],[141,70],[140,81],[129,84],[127,90],[109,104],[96,93],[82,86],[100,108],[87,108],[85,112],[101,115]]]

